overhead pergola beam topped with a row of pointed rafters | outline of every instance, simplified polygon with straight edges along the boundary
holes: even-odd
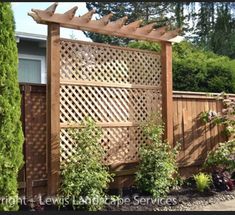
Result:
[[[110,21],[112,13],[98,20],[91,20],[95,10],[91,10],[82,16],[75,16],[78,7],[73,7],[63,14],[55,13],[57,3],[52,4],[46,10],[32,9],[29,15],[40,24],[57,23],[60,27],[72,28],[82,31],[95,32],[110,36],[126,37],[153,42],[164,42],[178,36],[181,29],[169,30],[168,26],[155,28],[156,23],[140,27],[142,20],[125,25],[128,17],[122,17],[116,21]]]

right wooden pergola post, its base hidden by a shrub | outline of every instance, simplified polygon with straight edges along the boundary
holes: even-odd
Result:
[[[165,124],[164,139],[173,146],[173,93],[172,93],[172,45],[161,43],[162,63],[162,116]]]

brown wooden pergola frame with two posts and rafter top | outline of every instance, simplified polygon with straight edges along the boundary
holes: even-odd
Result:
[[[56,194],[59,187],[60,27],[161,43],[162,116],[165,123],[165,138],[170,144],[173,144],[172,45],[170,40],[180,33],[180,29],[169,30],[168,26],[155,28],[156,23],[141,26],[141,20],[126,25],[126,16],[111,21],[112,13],[99,20],[92,20],[95,10],[78,17],[75,16],[78,7],[73,7],[63,14],[55,13],[57,5],[54,3],[46,10],[32,9],[32,13],[29,13],[29,16],[37,23],[48,25],[47,147],[49,194]]]

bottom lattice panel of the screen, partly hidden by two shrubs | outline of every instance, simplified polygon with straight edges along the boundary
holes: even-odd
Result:
[[[74,154],[74,143],[69,129],[61,129],[61,162],[69,161]],[[104,148],[104,163],[107,165],[138,161],[138,149],[147,139],[139,127],[103,128],[101,145]]]

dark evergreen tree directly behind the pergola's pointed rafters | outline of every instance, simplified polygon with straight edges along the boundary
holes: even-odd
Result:
[[[143,20],[143,24],[157,21],[160,26],[167,23],[167,13],[171,11],[171,5],[166,2],[88,2],[87,9],[96,9],[98,18],[112,12],[112,20],[128,16],[127,24],[136,20]],[[109,37],[91,32],[85,32],[94,42],[103,42],[114,45],[126,45],[130,39]]]

